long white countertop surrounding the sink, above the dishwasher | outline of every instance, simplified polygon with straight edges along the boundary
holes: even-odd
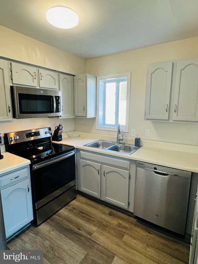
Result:
[[[98,140],[100,136],[98,136]],[[110,152],[107,150],[96,149],[85,147],[83,145],[96,141],[95,138],[86,137],[76,137],[70,138],[65,137],[62,141],[57,143],[67,144],[75,146],[78,149],[84,149],[93,151],[96,153],[108,154],[111,156],[117,156],[127,159],[139,160],[143,162],[149,162],[157,165],[162,165],[166,167],[176,168],[185,171],[192,171],[198,173],[198,154],[191,152],[184,152],[171,149],[155,148],[150,146],[142,146],[140,149],[135,151],[133,154],[120,154],[115,152]]]

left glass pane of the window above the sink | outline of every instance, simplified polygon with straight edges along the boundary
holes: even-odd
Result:
[[[106,83],[104,123],[115,124],[116,83]]]

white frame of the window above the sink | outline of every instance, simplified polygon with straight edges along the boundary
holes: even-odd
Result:
[[[96,114],[96,129],[99,130],[108,130],[108,131],[117,131],[117,125],[114,126],[105,126],[103,124],[103,93],[104,93],[104,85],[100,83],[102,80],[113,79],[113,78],[121,78],[127,77],[127,103],[126,103],[126,124],[125,127],[120,125],[120,130],[122,132],[129,132],[129,106],[130,106],[130,88],[131,88],[131,72],[112,74],[107,76],[99,76],[97,77],[97,114]],[[100,114],[99,114],[100,113]]]

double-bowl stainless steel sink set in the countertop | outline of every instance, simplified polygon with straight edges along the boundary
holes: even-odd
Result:
[[[97,148],[97,149],[104,149],[110,152],[119,152],[122,154],[132,154],[136,150],[138,150],[140,147],[135,147],[127,144],[118,144],[111,141],[105,141],[105,140],[97,140],[91,143],[88,143],[84,145],[86,147],[91,148]]]

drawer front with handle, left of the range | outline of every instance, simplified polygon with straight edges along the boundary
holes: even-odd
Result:
[[[0,188],[5,189],[9,186],[12,186],[18,182],[21,182],[25,179],[28,179],[29,176],[29,168],[24,168],[18,171],[14,171],[12,173],[6,174],[0,177]]]

